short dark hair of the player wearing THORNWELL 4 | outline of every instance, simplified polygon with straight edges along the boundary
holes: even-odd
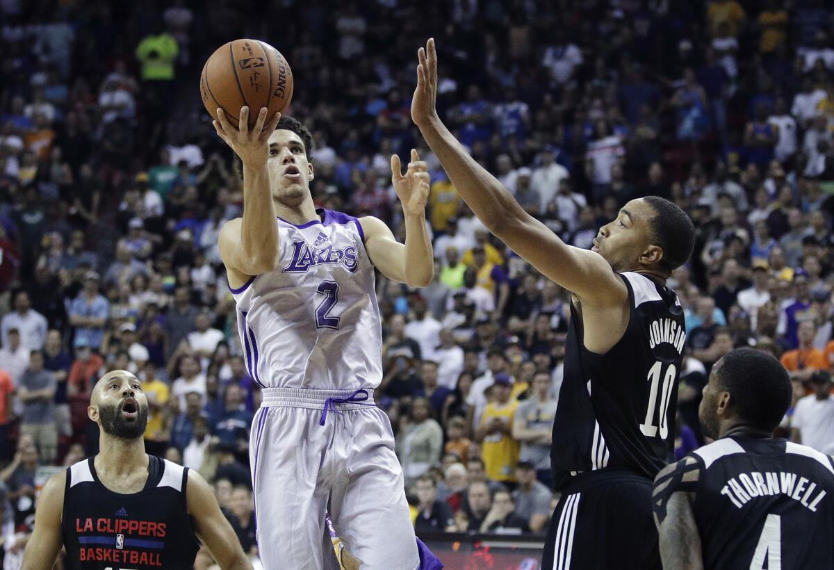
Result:
[[[721,387],[730,392],[741,420],[773,431],[791,407],[791,377],[776,357],[752,348],[737,348],[721,359],[716,371]]]

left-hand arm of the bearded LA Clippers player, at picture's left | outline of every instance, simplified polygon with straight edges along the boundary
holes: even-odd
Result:
[[[67,472],[49,477],[38,497],[35,529],[23,552],[23,570],[52,570],[61,552],[61,516],[63,490],[67,486]]]

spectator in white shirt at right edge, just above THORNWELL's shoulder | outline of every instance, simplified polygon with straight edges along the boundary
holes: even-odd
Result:
[[[814,372],[811,387],[813,394],[796,402],[791,439],[831,455],[834,452],[834,398],[831,398],[832,384],[828,371]]]

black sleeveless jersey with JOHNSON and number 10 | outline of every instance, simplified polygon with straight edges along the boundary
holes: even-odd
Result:
[[[579,311],[570,306],[564,379],[553,424],[555,488],[571,475],[627,469],[654,478],[672,458],[686,327],[674,291],[638,273],[620,275],[631,315],[605,355],[588,351]]]

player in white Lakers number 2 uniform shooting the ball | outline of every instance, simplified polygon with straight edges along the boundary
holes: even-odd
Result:
[[[429,284],[426,164],[412,150],[402,174],[391,157],[400,244],[372,216],[315,208],[313,137],[299,121],[276,113],[267,122],[264,108],[250,132],[246,107],[237,126],[221,109],[217,116],[217,134],[243,162],[244,215],[224,225],[219,248],[249,374],[264,395],[249,446],[264,567],[332,566],[325,511],[361,567],[418,567],[394,435],[374,406],[382,379],[374,268]]]

